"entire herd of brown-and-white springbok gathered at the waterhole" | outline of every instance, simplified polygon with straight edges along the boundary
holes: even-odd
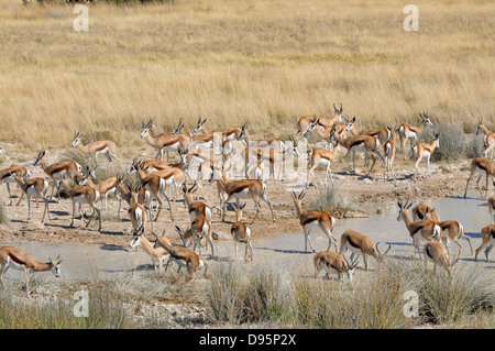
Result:
[[[120,216],[121,201],[125,200],[129,205],[128,215],[132,223],[133,238],[130,243],[131,248],[141,246],[147,252],[153,260],[153,265],[156,267],[158,262],[160,270],[163,268],[163,260],[167,260],[165,270],[173,261],[178,265],[178,270],[186,267],[189,277],[195,278],[196,272],[205,267],[206,260],[201,256],[201,241],[205,239],[205,248],[211,249],[211,256],[215,256],[216,233],[212,231],[211,219],[215,207],[200,201],[200,195],[206,200],[202,189],[204,182],[216,182],[218,198],[220,207],[218,208],[221,220],[226,220],[227,204],[235,200],[235,221],[231,227],[231,234],[235,248],[235,257],[238,254],[238,244],[242,243],[245,246],[244,260],[251,262],[253,260],[253,249],[251,246],[251,229],[252,224],[260,213],[262,201],[265,202],[272,215],[272,220],[275,222],[272,204],[266,196],[266,177],[265,165],[268,166],[270,177],[273,177],[274,184],[277,178],[276,168],[282,168],[282,165],[290,156],[305,157],[299,153],[298,146],[305,143],[307,145],[307,161],[309,168],[307,169],[306,187],[312,185],[315,178],[314,171],[319,165],[327,166],[324,176],[324,184],[327,185],[327,177],[330,173],[331,182],[333,183],[330,165],[337,160],[340,150],[345,150],[345,161],[351,169],[355,172],[355,153],[363,152],[372,158],[372,165],[369,173],[372,172],[376,156],[378,156],[385,166],[386,178],[391,176],[395,178],[394,174],[394,158],[396,153],[396,134],[400,139],[402,151],[405,153],[407,141],[410,141],[410,151],[413,157],[416,158],[414,180],[416,182],[418,165],[422,158],[427,162],[427,171],[429,174],[429,161],[431,154],[439,147],[439,133],[435,134],[432,142],[416,143],[419,134],[427,128],[433,127],[427,113],[419,113],[421,117],[421,124],[415,127],[407,123],[402,123],[398,128],[382,128],[366,131],[358,131],[354,127],[355,117],[348,119],[342,117],[342,105],[340,108],[334,108],[333,118],[324,118],[317,116],[305,116],[296,121],[297,133],[290,136],[289,141],[282,141],[275,138],[267,138],[261,140],[251,140],[248,132],[248,124],[242,127],[219,128],[209,130],[206,125],[206,119],[199,119],[193,133],[183,131],[185,124],[179,122],[174,132],[158,133],[154,125],[153,119],[147,123],[141,123],[141,138],[156,151],[155,160],[138,161],[134,160],[129,167],[128,174],[135,174],[134,185],[129,185],[123,182],[124,176],[117,174],[103,182],[95,184],[95,172],[87,167],[84,169],[78,163],[74,161],[62,161],[48,164],[45,160],[46,152],[38,153],[33,166],[40,166],[44,173],[52,179],[52,190],[48,197],[50,183],[48,179],[42,177],[30,177],[30,171],[22,166],[12,165],[6,169],[0,171],[0,183],[7,184],[9,193],[9,200],[12,205],[12,196],[10,184],[14,183],[22,189],[22,195],[16,202],[19,205],[25,194],[28,198],[28,220],[31,218],[31,198],[41,198],[44,201],[44,211],[42,222],[45,216],[51,220],[50,201],[54,197],[54,190],[57,191],[57,202],[59,201],[61,188],[64,188],[73,204],[73,215],[70,227],[75,222],[76,202],[78,204],[78,213],[82,221],[86,221],[86,227],[89,226],[94,218],[98,219],[98,230],[101,231],[101,211],[107,211],[107,198],[110,194],[117,196],[119,200],[118,213]],[[316,132],[323,140],[324,146],[322,149],[312,149],[307,142],[308,133]],[[348,134],[350,135],[348,136]],[[472,161],[471,174],[468,178],[464,197],[468,191],[470,180],[477,175],[477,188],[481,197],[487,199],[488,194],[488,178],[495,175],[495,163],[490,161],[488,153],[495,146],[495,133],[490,132],[483,122],[479,122],[476,134],[484,134],[484,142],[486,150],[484,157],[477,157]],[[82,144],[81,133],[74,135],[72,146],[79,147],[85,154],[98,164],[98,156],[105,155],[108,162],[118,161],[117,145],[110,140],[97,141],[88,144]],[[233,156],[233,144],[241,145],[241,152]],[[0,147],[1,153],[6,153]],[[167,161],[164,160],[164,152],[167,153]],[[180,156],[179,162],[168,161],[168,152],[178,152]],[[349,161],[349,155],[352,153],[353,163]],[[382,155],[383,153],[383,155]],[[227,174],[231,169],[232,164],[241,161],[243,164],[243,174],[240,179],[228,179]],[[191,165],[198,165],[196,177],[193,177]],[[278,174],[279,176],[279,174]],[[480,186],[481,178],[485,176],[485,191]],[[189,185],[187,184],[189,178]],[[316,185],[316,183],[315,183]],[[495,183],[494,183],[495,185]],[[169,210],[170,222],[174,221],[173,204],[178,199],[179,193],[184,196],[184,205],[187,207],[190,226],[187,230],[183,230],[178,226],[174,229],[180,237],[183,244],[172,244],[167,238],[165,230],[162,235],[157,235],[153,228],[153,223],[157,220],[163,201],[166,200]],[[168,195],[167,195],[168,193]],[[196,193],[196,200],[194,194]],[[320,211],[304,211],[301,201],[306,195],[306,189],[296,194],[292,191],[295,209],[299,223],[302,227],[305,234],[305,250],[308,251],[309,243],[314,253],[316,253],[311,240],[311,231],[322,231],[328,237],[327,251],[316,253],[314,256],[315,276],[318,276],[321,270],[324,270],[327,276],[331,272],[337,272],[339,279],[342,275],[346,275],[352,281],[354,268],[358,265],[359,255],[363,255],[364,265],[367,270],[367,256],[373,256],[377,262],[382,262],[391,250],[391,245],[385,251],[378,250],[378,244],[375,244],[369,237],[359,233],[354,230],[346,230],[340,240],[340,251],[337,239],[332,234],[336,226],[336,219],[328,212]],[[173,201],[170,201],[173,197]],[[245,204],[241,200],[251,198],[256,207],[256,213],[251,223],[245,223],[242,220],[242,211]],[[96,202],[101,201],[101,209],[97,207]],[[156,201],[156,206],[155,206]],[[87,204],[92,209],[92,215],[85,218],[81,211],[81,205]],[[484,250],[486,260],[490,262],[490,251],[495,241],[495,196],[487,199],[490,208],[490,216],[492,224],[482,229],[482,244],[475,250],[474,260],[481,250]],[[433,262],[433,270],[436,272],[437,265],[452,273],[455,264],[459,262],[461,253],[460,239],[469,242],[471,248],[471,255],[473,248],[470,238],[464,235],[463,226],[455,220],[441,221],[437,211],[424,204],[418,204],[411,209],[411,217],[409,208],[411,204],[398,201],[398,218],[403,220],[413,240],[415,253],[421,254],[425,261]],[[150,241],[145,233],[151,232],[155,239]],[[420,242],[426,242],[420,246]],[[450,242],[453,242],[458,248],[458,253],[450,255]],[[330,251],[334,245],[336,251]],[[346,250],[351,252],[351,263],[344,256]],[[198,253],[197,253],[198,252]],[[13,246],[0,248],[0,263],[1,275],[0,282],[3,285],[3,274],[9,267],[20,268],[25,271],[26,277],[26,293],[29,292],[29,273],[30,271],[43,272],[52,271],[55,276],[59,276],[59,267],[62,260],[58,256],[56,260],[50,262],[40,262],[33,255],[25,253]]]

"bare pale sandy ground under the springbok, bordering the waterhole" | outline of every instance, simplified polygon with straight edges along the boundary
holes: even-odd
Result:
[[[62,153],[62,151],[61,151]],[[51,152],[52,157],[47,158],[47,162],[59,161],[61,153]],[[150,152],[151,154],[151,152]],[[15,163],[15,155],[9,157],[3,162],[2,168],[12,164],[21,164],[26,166],[32,172],[32,177],[41,176],[46,177],[41,167],[32,166],[32,162],[36,155],[23,156],[23,163]],[[29,161],[25,161],[29,160]],[[32,160],[32,161],[31,161]],[[132,160],[122,160],[125,165],[130,165]],[[107,161],[102,160],[100,166],[106,166]],[[351,174],[348,169],[345,161],[341,160],[339,163],[332,165],[334,185],[339,187],[339,193],[348,198],[353,199],[352,207],[356,210],[361,205],[376,205],[376,210],[380,209],[381,204],[395,201],[397,199],[424,199],[424,198],[442,198],[452,195],[459,195],[463,193],[465,188],[465,182],[469,176],[470,161],[460,161],[455,163],[438,163],[431,165],[430,176],[426,177],[425,164],[421,165],[421,176],[418,182],[413,180],[413,165],[410,160],[403,160],[399,157],[396,171],[396,179],[386,180],[384,178],[384,167],[382,164],[376,164],[375,171],[372,177],[365,175],[363,168],[363,162],[359,161],[356,166],[356,174]],[[364,171],[363,171],[364,169]],[[307,189],[305,202],[310,201],[320,189],[324,188],[324,171],[318,171],[315,174],[316,183],[318,187],[311,186]],[[302,176],[300,179],[306,179]],[[330,179],[329,179],[329,184]],[[273,180],[268,180],[266,184],[266,195],[271,200],[275,213],[275,223],[272,222],[268,207],[263,204],[261,213],[257,220],[251,226],[252,237],[254,240],[261,238],[273,237],[278,233],[299,232],[300,226],[296,218],[296,211],[294,202],[290,197],[290,191],[295,189],[300,191],[305,186],[302,182],[295,180],[277,180],[274,185]],[[474,189],[475,182],[470,184],[470,189]],[[207,194],[206,202],[213,207],[219,207],[219,200],[217,197],[217,187],[215,183],[207,184],[205,187]],[[41,222],[43,215],[43,202],[40,207],[32,204],[31,220],[28,221],[28,201],[26,198],[21,201],[19,206],[15,206],[20,196],[20,189],[15,186],[11,187],[13,205],[8,206],[8,193],[6,185],[0,187],[0,197],[4,204],[4,210],[10,222],[0,224],[2,231],[2,244],[8,244],[10,241],[30,240],[38,242],[77,242],[77,243],[98,243],[98,244],[111,244],[111,245],[124,245],[127,246],[131,240],[131,221],[128,217],[128,205],[122,202],[121,217],[117,216],[118,200],[114,196],[109,197],[108,212],[103,216],[102,230],[98,232],[97,221],[91,222],[89,228],[85,228],[85,223],[77,219],[75,227],[69,228],[72,218],[72,202],[69,199],[62,199],[59,204],[51,201],[50,213],[51,219],[45,222]],[[189,218],[187,210],[184,206],[184,199],[182,193],[179,194],[179,200],[173,205],[174,222],[170,221],[167,206],[162,210],[157,222],[154,224],[155,232],[162,233],[166,229],[167,234],[173,242],[178,242],[178,235],[174,230],[174,224],[178,224],[182,228],[189,226]],[[99,205],[101,206],[101,205]],[[87,211],[89,208],[84,207]],[[370,208],[367,206],[367,208]],[[213,231],[219,235],[219,240],[230,239],[230,227],[234,220],[233,209],[228,211],[226,222],[221,221],[221,217],[217,211],[213,211],[212,226]],[[243,212],[243,219],[251,221],[255,213],[254,205],[251,200],[248,201],[248,206]],[[336,217],[345,216],[342,212],[333,212]],[[353,216],[352,212],[346,216]]]

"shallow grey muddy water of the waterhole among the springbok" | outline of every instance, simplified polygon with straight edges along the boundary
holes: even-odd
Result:
[[[464,226],[465,235],[471,239],[474,251],[481,244],[481,229],[490,224],[490,213],[486,201],[480,199],[477,197],[479,194],[473,191],[469,193],[469,196],[468,199],[450,197],[425,200],[424,202],[436,208],[442,220],[453,219],[461,222]],[[391,244],[392,249],[388,256],[399,260],[410,259],[414,246],[404,221],[397,221],[398,211],[396,202],[381,204],[377,206],[360,206],[358,209],[370,213],[371,217],[337,220],[333,237],[336,237],[339,244],[341,234],[348,229],[353,229],[370,237],[375,243],[380,242],[378,249],[382,251],[386,250],[388,244]],[[377,209],[382,209],[383,213],[378,215]],[[309,271],[312,274],[314,254],[305,252],[304,234],[300,228],[297,228],[297,231],[253,241],[255,262],[264,266],[277,267],[280,272],[285,272],[284,274],[294,273],[294,270],[300,270],[301,272]],[[324,234],[315,232],[310,237],[317,252],[327,250],[328,239]],[[468,242],[461,240],[460,243],[462,245],[461,259],[464,264],[493,267],[493,259],[490,263],[486,263],[484,253],[482,252],[480,253],[479,261],[474,262],[474,256],[470,254]],[[64,259],[62,267],[63,276],[68,279],[96,279],[109,275],[135,272],[135,270],[153,268],[151,265],[152,261],[146,253],[143,251],[135,252],[130,248],[80,243],[54,244],[28,241],[11,242],[9,244],[33,253],[41,261],[44,261],[48,256],[55,259],[61,254]],[[334,248],[332,246],[331,250],[333,251]],[[452,252],[457,252],[457,249],[454,248]],[[234,256],[234,245],[232,241],[216,242],[217,256],[213,260],[210,260],[209,251],[208,253],[202,253],[202,256],[211,264],[230,262]],[[349,254],[346,254],[348,257]],[[237,261],[242,262],[243,256],[244,245],[239,244]],[[363,265],[362,262],[362,257],[360,257],[359,266]],[[373,270],[375,266],[374,260],[370,259],[369,264]],[[11,274],[21,274],[20,276],[22,277],[21,272],[12,273],[9,271],[7,276]],[[51,276],[53,277],[53,275]]]

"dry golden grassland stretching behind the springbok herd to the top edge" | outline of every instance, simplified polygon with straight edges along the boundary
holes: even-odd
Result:
[[[90,6],[0,3],[0,143],[66,147],[76,130],[142,145],[199,116],[209,128],[250,123],[287,138],[304,114],[356,116],[358,128],[495,128],[495,8],[491,1],[248,0]],[[9,151],[9,147],[6,147]]]

